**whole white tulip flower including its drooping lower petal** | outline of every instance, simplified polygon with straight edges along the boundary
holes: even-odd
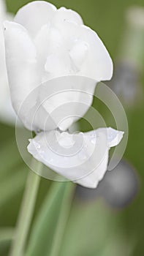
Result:
[[[21,8],[4,23],[12,105],[36,132],[28,151],[56,173],[94,188],[107,170],[108,151],[123,132],[101,128],[60,132],[91,105],[96,83],[110,80],[113,63],[97,34],[77,12],[45,1]],[[59,128],[59,129],[58,129]]]

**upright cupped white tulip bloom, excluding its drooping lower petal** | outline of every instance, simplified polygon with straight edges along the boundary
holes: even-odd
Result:
[[[64,7],[57,10],[46,1],[33,1],[18,11],[14,21],[4,23],[4,37],[12,105],[16,113],[30,92],[45,81],[77,75],[79,78],[75,89],[93,94],[96,82],[112,77],[113,63],[105,46],[94,31],[83,25],[77,12]],[[80,76],[94,80],[91,80],[91,84],[86,83],[83,78],[80,80]],[[72,89],[72,86],[71,83],[67,89]],[[60,83],[57,82],[55,87],[55,93],[61,90]],[[31,105],[29,98],[27,112],[18,114],[28,129],[43,129],[44,124],[39,123],[39,118],[45,114],[48,116],[64,102],[73,102],[79,98],[87,105],[84,110],[81,108],[81,113],[79,110],[80,116],[83,116],[93,99],[88,93],[58,94],[50,104],[42,104],[31,127],[31,114],[37,109],[42,91],[37,90],[37,95],[34,95],[35,105]],[[63,118],[69,116],[67,114],[64,115],[63,110]],[[66,130],[75,120],[75,117],[65,119],[59,128]],[[56,124],[50,124],[47,129],[58,126],[57,121],[54,121]]]

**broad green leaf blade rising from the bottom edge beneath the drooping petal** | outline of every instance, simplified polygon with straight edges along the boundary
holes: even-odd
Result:
[[[57,253],[67,222],[73,187],[69,182],[52,184],[34,222],[26,256],[52,255],[50,252],[53,256],[59,255]],[[56,246],[55,252],[53,246]]]

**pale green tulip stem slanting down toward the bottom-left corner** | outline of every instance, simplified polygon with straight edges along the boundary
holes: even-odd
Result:
[[[31,161],[31,167],[38,172],[42,170],[42,163],[37,162],[33,158]],[[39,181],[40,176],[34,173],[34,171],[30,171],[23,195],[23,201],[20,206],[20,213],[17,226],[15,228],[15,238],[12,241],[10,256],[23,256],[24,254],[27,236],[31,226],[31,219],[34,213],[37,192],[39,189]]]

